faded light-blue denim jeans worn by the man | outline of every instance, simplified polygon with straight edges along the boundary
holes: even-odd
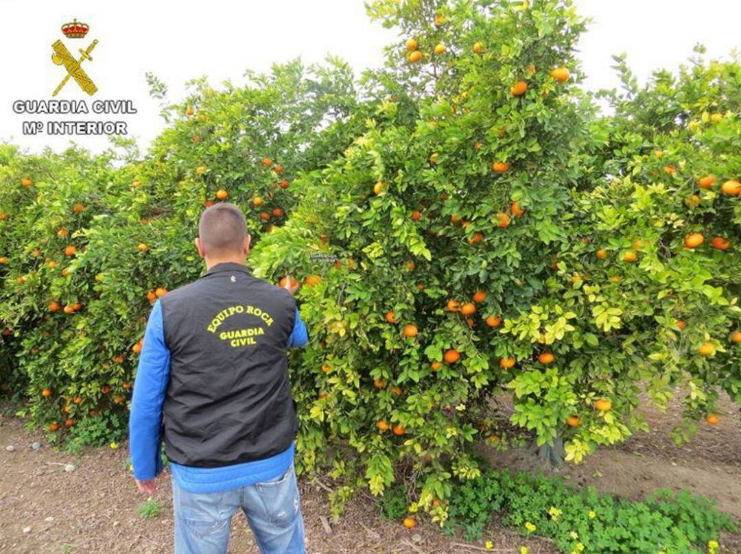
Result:
[[[173,480],[175,554],[225,554],[232,515],[247,517],[262,554],[305,554],[293,464],[283,475],[219,493],[188,493]]]

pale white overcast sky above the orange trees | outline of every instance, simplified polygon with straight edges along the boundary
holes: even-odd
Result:
[[[740,0],[576,0],[582,16],[592,19],[579,42],[578,56],[591,90],[619,86],[613,54],[625,52],[640,82],[658,67],[676,69],[698,42],[708,56],[728,58],[740,47]],[[125,6],[125,9],[124,9]],[[99,88],[87,96],[70,79],[56,99],[130,100],[135,114],[125,116],[33,116],[13,112],[17,100],[48,100],[67,71],[51,61],[51,44],[63,39],[60,27],[78,19],[90,25],[84,39],[63,40],[76,59],[78,48],[99,42],[85,60]],[[0,0],[0,141],[39,152],[63,150],[69,136],[24,135],[23,121],[119,121],[142,149],[165,123],[158,101],[150,99],[144,78],[154,73],[168,87],[168,98],[185,96],[189,79],[207,76],[218,88],[225,80],[244,81],[246,69],[258,72],[300,56],[321,62],[327,54],[348,61],[356,75],[383,63],[382,47],[396,32],[371,23],[362,0]],[[93,151],[108,147],[103,136],[76,136]]]

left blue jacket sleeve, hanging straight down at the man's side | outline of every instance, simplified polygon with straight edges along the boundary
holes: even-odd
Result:
[[[162,403],[170,379],[170,350],[165,344],[162,306],[156,301],[144,331],[144,346],[134,379],[129,416],[129,448],[134,477],[147,481],[162,473]]]

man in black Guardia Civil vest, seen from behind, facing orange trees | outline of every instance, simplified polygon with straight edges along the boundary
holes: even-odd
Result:
[[[136,484],[154,493],[164,441],[176,554],[226,553],[240,508],[263,554],[304,554],[286,358],[308,341],[297,287],[250,275],[233,204],[205,210],[196,249],[206,275],[159,298],[144,333],[129,421]]]

